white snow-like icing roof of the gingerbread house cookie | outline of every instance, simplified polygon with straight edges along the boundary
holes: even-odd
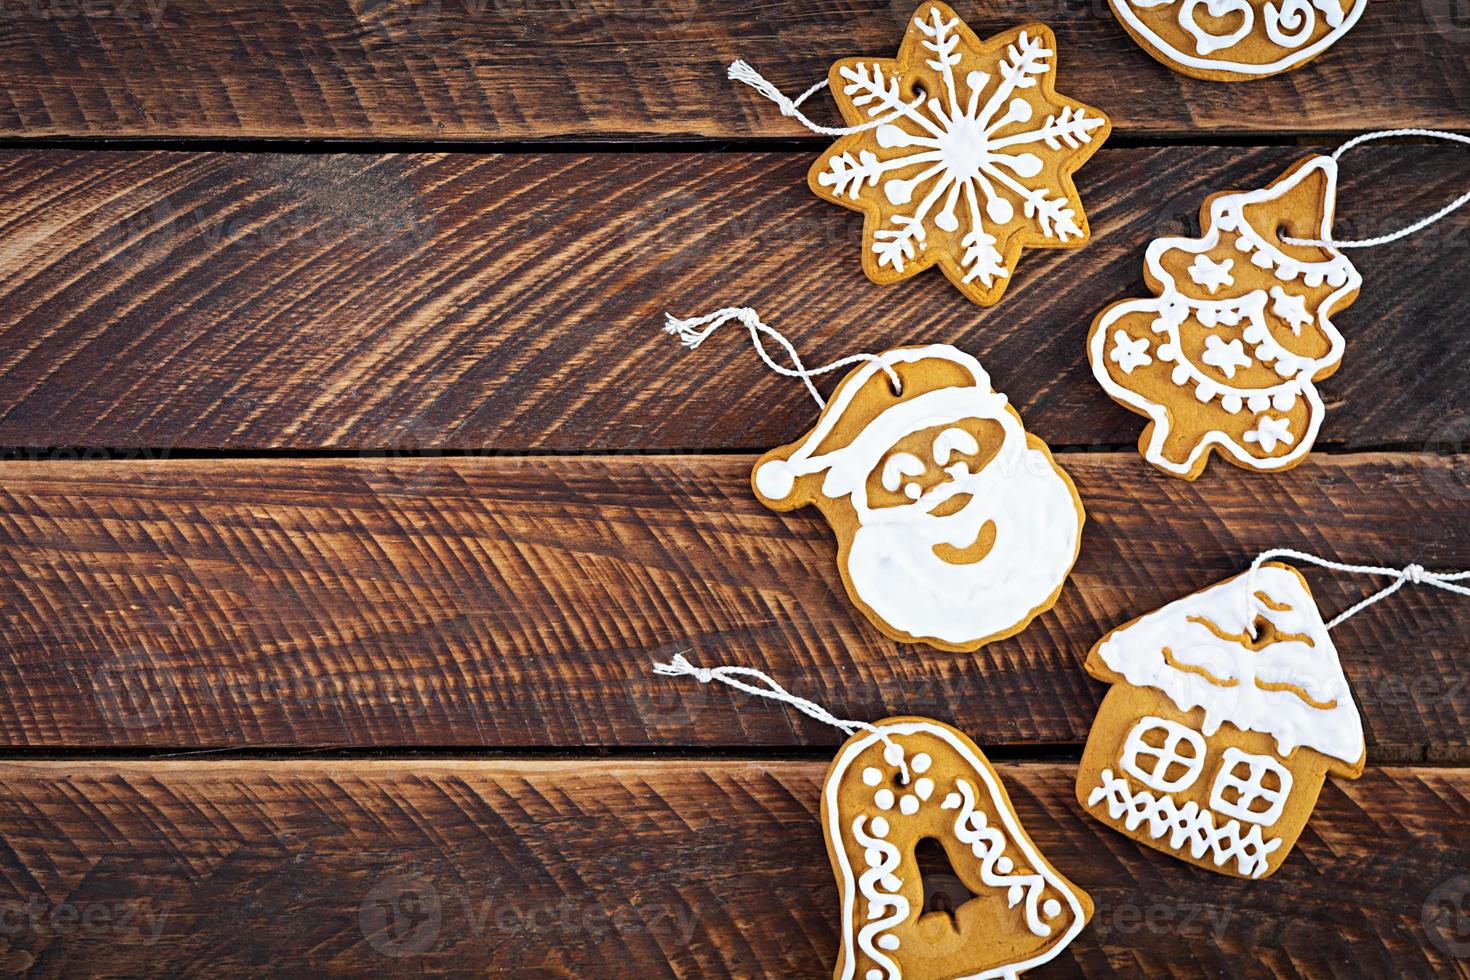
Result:
[[[1274,629],[1252,641],[1247,610]],[[1229,721],[1270,735],[1280,755],[1305,745],[1349,765],[1363,758],[1348,679],[1294,569],[1266,564],[1254,577],[1186,595],[1113,630],[1094,654],[1129,683],[1169,695],[1180,711],[1204,708],[1205,735]]]

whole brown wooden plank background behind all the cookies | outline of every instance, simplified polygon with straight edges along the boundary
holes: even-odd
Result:
[[[1107,110],[1080,251],[1005,300],[869,284],[795,94],[913,4],[0,3],[0,970],[37,976],[831,973],[816,820],[835,730],[653,677],[769,670],[845,717],[923,713],[997,760],[1098,915],[1035,976],[1470,977],[1470,604],[1335,632],[1369,770],[1269,882],[1083,817],[1080,670],[1111,626],[1292,545],[1470,567],[1470,223],[1361,253],[1289,473],[1138,458],[1083,338],[1158,234],[1344,134],[1470,128],[1461,0],[1373,0],[1307,68],[1217,85],[1101,0],[956,4],[1058,37]],[[825,96],[808,109],[833,120]],[[1461,147],[1345,162],[1336,232],[1466,190]],[[1388,204],[1392,203],[1392,207]],[[738,334],[808,363],[958,344],[1089,511],[1055,610],[976,655],[892,644],[810,511],[748,492],[806,429]],[[1372,585],[1308,577],[1326,611]]]

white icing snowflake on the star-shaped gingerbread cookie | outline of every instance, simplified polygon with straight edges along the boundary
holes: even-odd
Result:
[[[913,19],[920,43],[931,53],[926,63],[939,72],[942,90],[917,106],[879,65],[838,69],[842,94],[854,106],[870,116],[892,118],[878,128],[876,138],[881,148],[897,153],[883,159],[870,150],[860,150],[856,157],[833,156],[817,175],[817,184],[851,200],[857,200],[864,184],[882,187],[889,204],[914,204],[908,213],[892,215],[892,226],[873,234],[878,264],[895,272],[903,272],[926,247],[929,225],[945,232],[963,226],[964,282],[979,279],[988,287],[1010,273],[995,237],[985,229],[986,220],[1005,225],[1020,207],[1030,219],[1032,234],[1058,242],[1083,235],[1067,188],[1045,184],[1042,160],[1028,147],[1076,148],[1092,143],[1094,131],[1107,120],[1073,106],[1045,119],[1032,118],[1032,106],[1014,96],[1051,72],[1054,51],[1026,32],[1008,46],[994,75],[972,71],[957,78],[954,66],[963,60],[957,50],[958,25],[958,18],[945,19],[932,6],[920,7],[920,16]]]

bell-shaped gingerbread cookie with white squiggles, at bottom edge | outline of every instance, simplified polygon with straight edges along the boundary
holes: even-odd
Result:
[[[850,738],[822,788],[822,827],[842,896],[838,980],[1014,977],[1092,917],[1022,830],[985,755],[939,721],[888,718]],[[926,839],[958,899],[926,892]]]

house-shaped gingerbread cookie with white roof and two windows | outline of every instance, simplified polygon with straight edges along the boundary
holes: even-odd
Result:
[[[1263,564],[1114,629],[1086,669],[1113,689],[1088,735],[1078,801],[1189,864],[1272,874],[1327,773],[1363,774],[1352,692],[1291,566]]]

